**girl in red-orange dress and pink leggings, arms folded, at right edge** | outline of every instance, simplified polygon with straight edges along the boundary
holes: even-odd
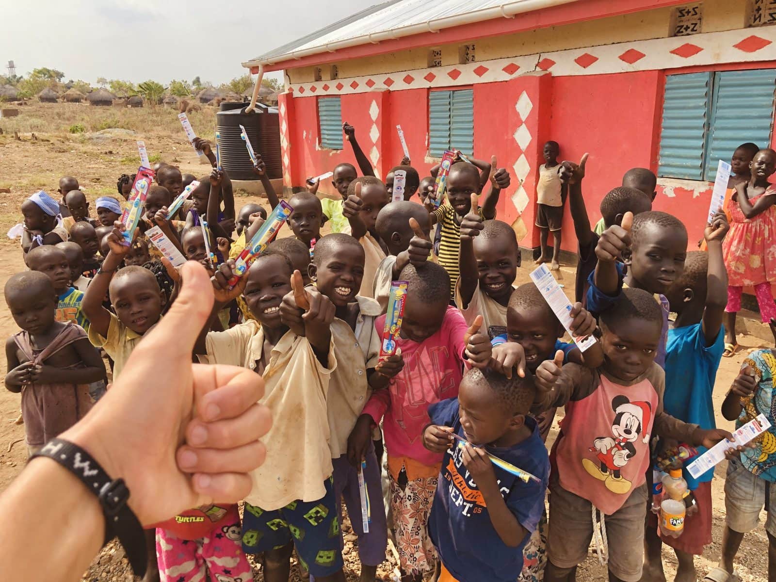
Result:
[[[750,162],[749,182],[736,184],[730,199],[730,234],[722,244],[728,271],[728,304],[725,308],[726,358],[738,352],[736,314],[741,310],[743,287],[753,286],[763,323],[776,322],[771,283],[776,282],[776,255],[772,244],[776,232],[776,187],[768,177],[776,171],[776,151],[760,150]],[[771,326],[776,340],[776,328]]]

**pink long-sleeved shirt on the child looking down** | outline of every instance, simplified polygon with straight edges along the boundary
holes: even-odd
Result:
[[[386,316],[375,320],[382,334]],[[388,454],[403,456],[434,466],[442,462],[442,454],[423,446],[423,428],[428,425],[428,407],[440,400],[458,396],[461,383],[463,336],[466,320],[455,307],[448,307],[442,327],[422,343],[401,339],[404,369],[393,378],[386,390],[376,390],[364,407],[376,423],[384,417],[383,438]]]

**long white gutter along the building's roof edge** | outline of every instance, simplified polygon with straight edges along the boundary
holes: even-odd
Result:
[[[382,40],[392,40],[401,38],[402,36],[412,36],[420,33],[438,33],[439,30],[445,28],[452,28],[452,26],[461,26],[463,24],[480,23],[484,20],[491,20],[496,18],[514,18],[516,14],[524,12],[533,12],[535,10],[541,10],[545,8],[551,8],[552,6],[558,6],[563,4],[570,4],[571,2],[577,2],[577,0],[519,0],[518,2],[504,2],[504,4],[495,6],[493,8],[486,8],[476,10],[474,12],[467,12],[466,14],[459,14],[456,16],[445,16],[445,18],[427,20],[424,23],[412,24],[410,26],[400,26],[399,28],[383,30],[379,33],[369,33],[361,36],[355,36],[346,40],[338,40],[334,43],[327,43],[322,46],[307,48],[303,50],[292,50],[290,53],[280,54],[277,57],[265,59],[263,61],[247,61],[242,64],[243,67],[259,68],[259,79],[262,76],[262,65],[271,65],[280,61],[288,61],[289,59],[300,59],[302,57],[309,57],[310,55],[320,54],[324,51],[334,52],[334,50],[344,49],[348,47],[357,47],[362,44],[372,43],[376,44]],[[258,87],[258,85],[256,85]],[[254,95],[257,95],[258,89],[254,91]],[[251,102],[252,104],[253,102]]]

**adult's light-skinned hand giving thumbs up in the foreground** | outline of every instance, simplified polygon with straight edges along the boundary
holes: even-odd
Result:
[[[264,462],[258,438],[272,424],[261,376],[227,365],[192,364],[213,307],[205,269],[182,268],[178,299],[137,345],[123,375],[61,438],[86,449],[130,489],[144,525],[200,505],[237,503]],[[149,386],[153,379],[154,386]]]

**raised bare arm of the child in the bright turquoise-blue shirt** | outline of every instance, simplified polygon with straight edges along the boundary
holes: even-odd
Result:
[[[706,303],[703,310],[703,336],[706,346],[714,344],[722,329],[722,318],[725,316],[727,305],[727,268],[722,258],[722,240],[725,238],[730,225],[723,210],[719,210],[712,223],[703,231],[708,248],[708,272],[706,274]]]

